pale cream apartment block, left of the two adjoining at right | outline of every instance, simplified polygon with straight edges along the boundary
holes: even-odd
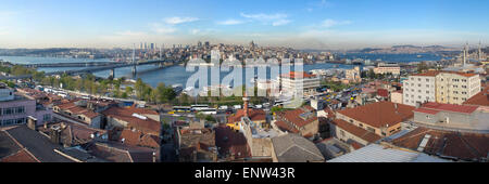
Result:
[[[439,71],[412,75],[404,81],[403,104],[416,106],[417,103],[436,102],[436,76]]]

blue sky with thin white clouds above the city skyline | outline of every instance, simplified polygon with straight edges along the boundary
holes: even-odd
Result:
[[[482,0],[1,0],[0,48],[489,43]]]

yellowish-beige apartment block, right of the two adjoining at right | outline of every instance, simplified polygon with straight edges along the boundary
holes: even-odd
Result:
[[[436,80],[438,103],[460,105],[480,92],[480,78],[476,74],[444,71]]]

